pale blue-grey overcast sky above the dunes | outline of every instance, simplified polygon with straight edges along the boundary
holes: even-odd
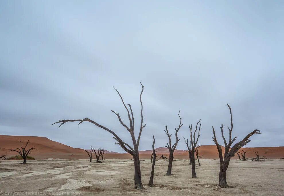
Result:
[[[131,143],[116,87],[143,129],[139,150],[174,136],[186,149],[188,124],[201,119],[200,143],[214,144],[212,126],[230,125],[247,147],[283,146],[283,1],[1,1],[0,131],[48,137],[75,148],[124,152],[112,135]],[[225,129],[226,137],[227,129]],[[138,135],[138,134],[137,134]],[[173,138],[174,139],[174,138]]]

